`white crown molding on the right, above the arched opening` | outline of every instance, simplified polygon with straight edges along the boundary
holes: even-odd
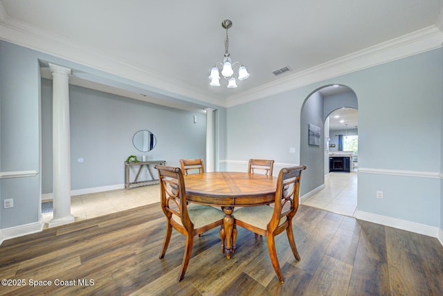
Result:
[[[233,107],[266,98],[301,86],[377,66],[396,59],[424,53],[442,47],[443,33],[437,26],[429,26],[390,41],[359,50],[314,66],[305,71],[288,75],[280,80],[226,98],[226,106]]]

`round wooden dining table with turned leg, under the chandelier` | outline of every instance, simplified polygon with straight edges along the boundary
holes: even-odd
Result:
[[[208,172],[184,176],[188,201],[201,205],[220,206],[226,241],[221,250],[230,255],[235,252],[234,207],[268,205],[275,202],[277,177],[242,172]]]

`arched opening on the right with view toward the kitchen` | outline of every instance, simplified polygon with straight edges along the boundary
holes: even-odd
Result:
[[[312,126],[318,130],[318,142],[311,140]],[[358,146],[351,142],[358,136],[356,94],[339,84],[316,89],[303,103],[300,127],[300,163],[308,167],[302,203],[352,216],[358,178]],[[330,167],[331,158],[337,160],[335,167]]]

